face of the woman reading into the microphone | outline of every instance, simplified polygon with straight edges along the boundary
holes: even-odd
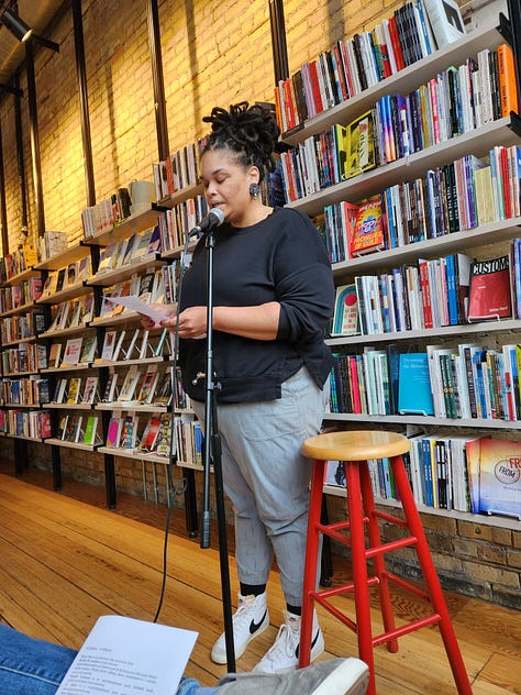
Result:
[[[226,222],[246,227],[252,210],[250,186],[258,181],[258,169],[245,169],[226,150],[206,152],[200,162],[201,181],[210,208],[221,208]]]

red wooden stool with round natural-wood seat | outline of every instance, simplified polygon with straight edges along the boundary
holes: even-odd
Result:
[[[383,431],[330,432],[304,441],[302,452],[309,459],[313,459],[314,463],[311,478],[311,501],[302,596],[300,666],[309,664],[313,607],[314,602],[317,602],[357,633],[358,655],[362,661],[367,663],[370,672],[368,695],[376,693],[373,648],[387,642],[387,649],[390,652],[396,652],[399,637],[435,624],[440,627],[458,693],[461,695],[472,695],[470,684],[454,628],[403,466],[401,455],[408,452],[409,449],[410,442],[406,437]],[[398,492],[397,497],[403,507],[404,519],[375,508],[367,461],[386,457],[390,461]],[[323,525],[320,522],[320,512],[328,461],[344,462],[347,490],[347,521]],[[384,543],[380,539],[378,519],[407,529],[408,534],[406,538]],[[365,540],[366,526],[367,548]],[[348,530],[348,533],[341,533],[345,529]],[[351,548],[353,563],[352,584],[323,591],[317,589],[317,562],[321,533],[334,538],[336,541]],[[386,570],[385,553],[406,547],[415,549],[426,584],[426,593]],[[368,560],[373,564],[373,574],[368,574]],[[389,595],[389,581],[430,602],[434,613],[397,628]],[[385,631],[377,636],[373,636],[370,625],[370,586],[378,588],[384,619]],[[339,596],[350,591],[354,592],[356,620],[352,620],[329,600],[330,597]]]

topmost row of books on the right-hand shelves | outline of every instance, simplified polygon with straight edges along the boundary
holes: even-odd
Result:
[[[450,14],[450,16],[447,16]],[[351,99],[465,34],[453,0],[414,0],[372,31],[337,41],[275,89],[282,132]]]

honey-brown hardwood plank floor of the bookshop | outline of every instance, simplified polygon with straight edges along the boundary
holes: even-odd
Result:
[[[48,478],[40,485],[49,487]],[[80,488],[89,494],[85,485],[67,483],[67,488],[69,494]],[[159,621],[199,632],[187,673],[212,685],[225,671],[209,657],[222,629],[219,555],[214,548],[201,550],[197,540],[188,539],[182,516],[174,516]],[[152,620],[160,593],[165,517],[164,507],[135,498],[124,497],[114,512],[103,508],[102,493],[95,504],[86,504],[0,473],[0,619],[34,637],[75,648],[100,615]],[[235,604],[233,558],[230,567]],[[350,573],[348,563],[335,559],[334,571],[334,580],[342,580]],[[351,598],[339,600],[352,606]],[[447,594],[447,603],[475,695],[521,694],[521,614],[455,594]],[[424,610],[414,597],[397,591],[393,605],[398,621]],[[271,627],[251,644],[237,670],[253,668],[269,647],[282,607],[274,571]],[[325,611],[320,611],[320,619],[325,657],[356,653],[351,630]],[[379,625],[376,609],[374,621]],[[399,644],[396,654],[385,647],[375,652],[379,695],[456,692],[436,628],[413,632]]]

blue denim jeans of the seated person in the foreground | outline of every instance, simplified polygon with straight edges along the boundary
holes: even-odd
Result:
[[[1,695],[54,695],[75,657],[74,649],[27,637],[0,624]],[[211,695],[218,691],[182,679],[177,692]]]

